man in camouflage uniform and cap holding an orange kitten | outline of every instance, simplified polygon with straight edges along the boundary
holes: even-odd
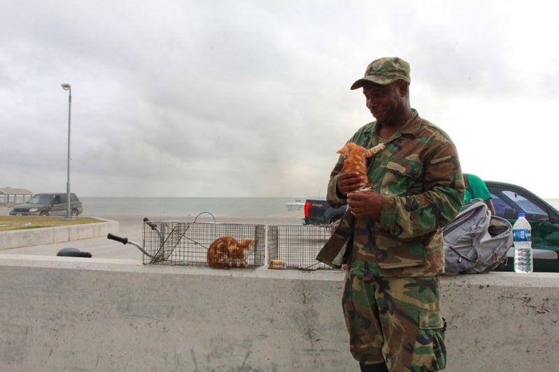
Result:
[[[349,142],[386,148],[368,161],[366,178],[341,172],[340,157],[328,184],[328,203],[349,208],[317,260],[348,266],[342,304],[361,371],[446,365],[441,229],[458,214],[464,184],[449,136],[410,107],[409,82],[409,64],[387,57],[351,85],[363,88],[376,121]]]

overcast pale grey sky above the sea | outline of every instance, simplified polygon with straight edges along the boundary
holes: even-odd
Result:
[[[324,196],[373,119],[351,83],[398,56],[464,172],[559,198],[558,8],[5,0],[0,187],[66,191],[68,83],[80,196]]]

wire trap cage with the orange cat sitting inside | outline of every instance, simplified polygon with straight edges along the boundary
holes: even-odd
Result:
[[[254,247],[245,251],[245,267],[264,265],[264,225],[177,221],[143,224],[143,264],[208,267],[208,248],[221,237],[233,237],[238,241],[254,239]]]

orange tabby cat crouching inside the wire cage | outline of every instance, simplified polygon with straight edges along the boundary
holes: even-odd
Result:
[[[239,243],[233,237],[219,237],[208,248],[208,266],[215,269],[246,267],[245,251],[254,248],[254,239],[242,239]]]

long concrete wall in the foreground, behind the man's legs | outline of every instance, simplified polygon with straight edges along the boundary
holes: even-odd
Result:
[[[358,371],[341,271],[0,257],[2,371]],[[559,276],[442,278],[447,371],[557,371]]]

